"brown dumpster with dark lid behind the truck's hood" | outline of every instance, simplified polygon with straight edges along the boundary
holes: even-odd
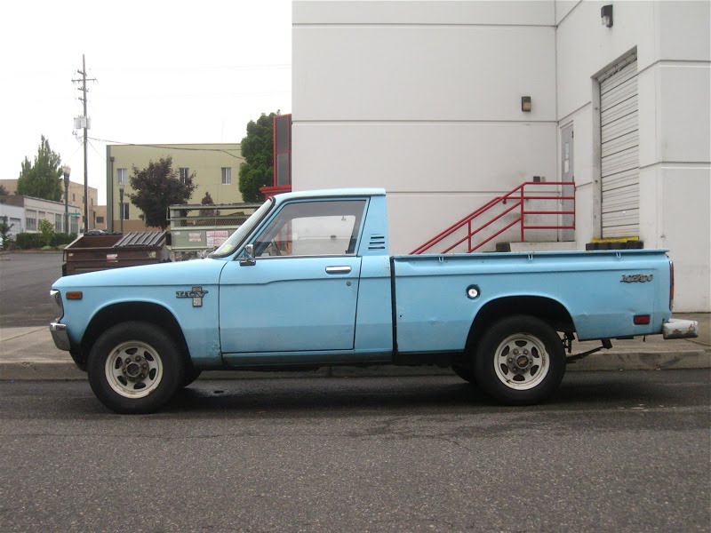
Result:
[[[64,249],[62,275],[163,263],[169,260],[165,238],[156,231],[81,235]]]

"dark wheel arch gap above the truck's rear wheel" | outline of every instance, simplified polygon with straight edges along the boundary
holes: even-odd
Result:
[[[507,296],[493,299],[482,306],[467,336],[467,354],[474,353],[483,333],[491,324],[507,316],[530,314],[547,322],[556,331],[575,331],[571,313],[559,301],[545,296]]]

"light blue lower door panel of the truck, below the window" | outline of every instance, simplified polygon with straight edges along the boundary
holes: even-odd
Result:
[[[230,261],[220,278],[225,353],[352,350],[361,259]]]

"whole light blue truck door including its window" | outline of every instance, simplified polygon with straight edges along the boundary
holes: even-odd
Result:
[[[366,201],[286,203],[220,278],[225,354],[352,350]],[[242,258],[244,259],[244,258]]]

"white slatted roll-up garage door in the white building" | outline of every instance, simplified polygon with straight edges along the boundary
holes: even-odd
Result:
[[[637,56],[598,78],[602,132],[603,238],[639,235]]]

